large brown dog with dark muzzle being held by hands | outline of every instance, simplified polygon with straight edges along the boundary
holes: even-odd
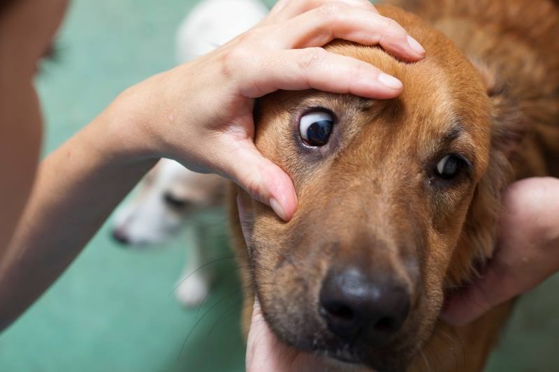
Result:
[[[283,223],[239,191],[245,245],[231,196],[250,268],[245,321],[256,292],[273,332],[299,350],[379,371],[479,371],[510,304],[467,327],[438,317],[491,258],[504,186],[559,175],[559,10],[551,0],[399,5],[428,23],[378,9],[426,48],[423,61],[328,49],[395,75],[400,97],[279,91],[256,107],[256,145],[291,176],[299,207]]]

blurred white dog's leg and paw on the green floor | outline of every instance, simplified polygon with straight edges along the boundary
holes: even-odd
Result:
[[[212,265],[208,265],[208,248],[204,246],[203,225],[191,227],[191,241],[187,244],[187,266],[175,290],[177,300],[187,307],[201,304],[210,291]]]

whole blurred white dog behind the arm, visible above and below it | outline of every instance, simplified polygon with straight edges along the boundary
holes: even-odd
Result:
[[[179,63],[211,52],[242,34],[266,17],[268,8],[258,0],[203,0],[184,18],[177,31]],[[140,184],[134,198],[115,216],[113,237],[123,244],[157,244],[193,221],[200,209],[223,204],[226,181],[211,174],[198,174],[175,161],[161,159]],[[185,306],[199,304],[210,290],[211,271],[203,267],[205,228],[192,225],[193,241],[187,267],[175,289]]]

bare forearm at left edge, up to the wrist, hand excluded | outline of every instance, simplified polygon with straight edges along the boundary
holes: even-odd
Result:
[[[154,165],[131,161],[104,113],[43,161],[0,269],[0,329],[71,263],[115,205]]]

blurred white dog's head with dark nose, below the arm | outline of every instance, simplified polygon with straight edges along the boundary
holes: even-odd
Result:
[[[143,179],[136,195],[117,211],[112,236],[122,244],[165,241],[192,212],[223,200],[224,181],[161,159]]]

